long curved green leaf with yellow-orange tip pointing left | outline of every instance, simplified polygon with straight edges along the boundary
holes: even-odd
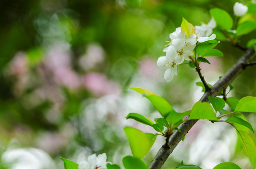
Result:
[[[168,101],[158,96],[157,94],[141,88],[136,88],[136,87],[128,87],[128,88],[141,93],[142,96],[147,98],[152,103],[152,105],[159,111],[159,113],[163,117],[166,117],[168,113],[172,110],[172,106],[168,103]]]

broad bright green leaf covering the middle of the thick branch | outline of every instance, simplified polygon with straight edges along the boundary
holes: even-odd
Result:
[[[189,119],[218,120],[211,105],[207,102],[196,102],[191,110]]]

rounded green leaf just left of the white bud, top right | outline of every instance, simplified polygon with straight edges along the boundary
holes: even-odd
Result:
[[[214,20],[222,30],[230,30],[233,26],[232,17],[223,9],[214,8],[210,10],[210,14],[214,17]]]

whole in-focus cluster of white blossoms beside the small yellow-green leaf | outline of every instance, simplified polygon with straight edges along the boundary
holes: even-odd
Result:
[[[186,32],[181,27],[176,28],[176,31],[169,35],[171,39],[168,43],[168,47],[164,49],[166,56],[161,56],[157,65],[166,69],[164,78],[167,82],[170,82],[174,75],[177,75],[178,65],[183,63],[184,60],[189,61],[189,56],[192,56],[193,50],[196,44],[199,42],[205,42],[216,38],[215,34],[212,34],[212,30],[216,27],[214,18],[210,20],[208,24],[202,23],[201,26],[195,26],[193,33],[187,36]]]

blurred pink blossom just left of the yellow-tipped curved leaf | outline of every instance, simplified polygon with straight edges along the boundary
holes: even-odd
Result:
[[[120,93],[120,86],[108,80],[104,74],[95,72],[87,73],[82,77],[81,83],[95,97]]]

